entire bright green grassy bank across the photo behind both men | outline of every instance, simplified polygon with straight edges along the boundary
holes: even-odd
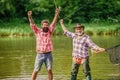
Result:
[[[82,23],[88,35],[120,35],[120,23],[97,22]],[[37,23],[40,26],[40,23]],[[73,31],[75,24],[65,24],[68,30]],[[55,28],[54,35],[62,35],[63,30],[59,23]],[[33,36],[28,20],[14,19],[9,22],[0,22],[0,36]]]

